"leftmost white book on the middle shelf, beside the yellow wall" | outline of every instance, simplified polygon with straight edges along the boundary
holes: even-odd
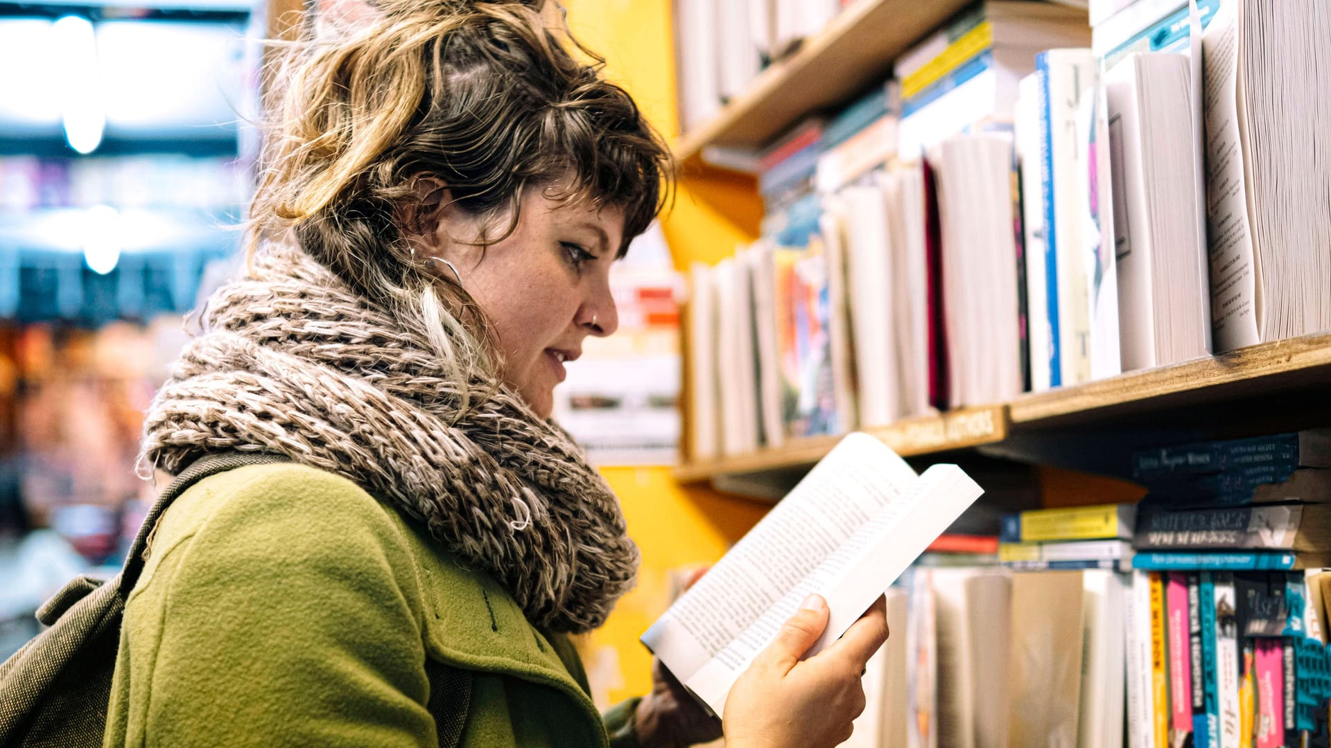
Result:
[[[693,262],[688,272],[688,386],[689,458],[713,459],[720,454],[716,417],[716,309],[712,269]]]

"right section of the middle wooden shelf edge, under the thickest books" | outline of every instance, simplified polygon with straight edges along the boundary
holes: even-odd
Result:
[[[1318,333],[1159,369],[1021,395],[1010,403],[1013,425],[1071,419],[1111,407],[1169,398],[1207,399],[1207,393],[1260,381],[1263,387],[1296,383],[1331,371],[1331,333]]]

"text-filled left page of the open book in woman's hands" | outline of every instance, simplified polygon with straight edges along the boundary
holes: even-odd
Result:
[[[643,644],[687,683],[914,480],[882,442],[844,438],[647,630]]]

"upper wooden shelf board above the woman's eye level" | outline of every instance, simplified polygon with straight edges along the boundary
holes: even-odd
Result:
[[[680,161],[704,148],[756,150],[800,117],[843,102],[882,79],[901,52],[956,15],[968,0],[860,0],[749,89],[675,144]]]

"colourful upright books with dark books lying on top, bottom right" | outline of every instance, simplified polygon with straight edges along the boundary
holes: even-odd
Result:
[[[1324,724],[1324,628],[1308,600],[1331,563],[1328,467],[1327,430],[1133,455],[1150,490],[1127,628],[1134,745],[1299,745]]]

